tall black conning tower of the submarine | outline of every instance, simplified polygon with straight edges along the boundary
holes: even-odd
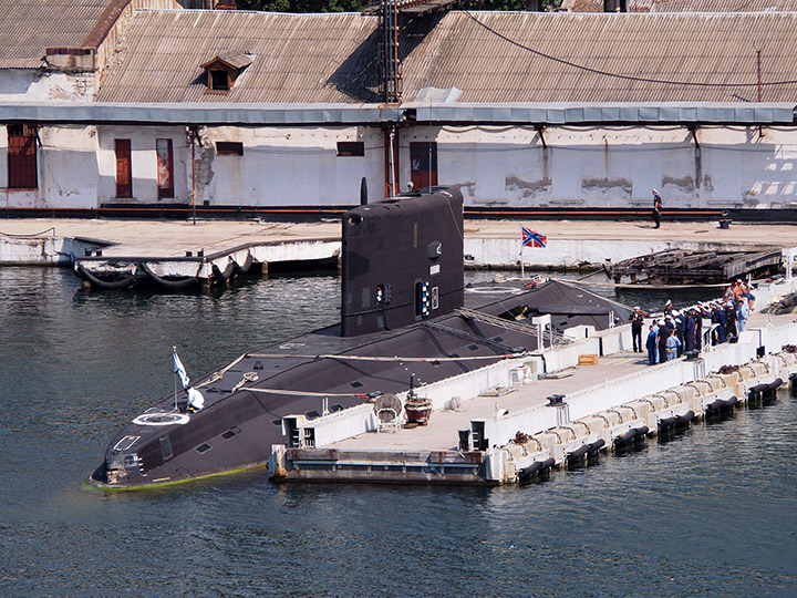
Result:
[[[463,196],[435,188],[343,216],[341,334],[420,322],[463,307]]]

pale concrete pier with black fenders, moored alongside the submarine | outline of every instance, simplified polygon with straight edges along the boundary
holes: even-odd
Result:
[[[756,305],[793,291],[790,281],[762,285]],[[506,360],[423,386],[434,405],[425,426],[385,426],[368,404],[311,421],[297,415],[310,432],[299,437],[317,442],[275,446],[270,473],[286,481],[518,482],[788,384],[797,377],[795,320],[756,313],[738,342],[653,367],[630,351],[629,326],[587,333],[545,359]],[[368,432],[348,432],[358,427]]]

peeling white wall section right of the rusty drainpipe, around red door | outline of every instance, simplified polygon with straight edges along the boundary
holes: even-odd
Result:
[[[437,142],[439,183],[468,205],[641,207],[656,188],[666,208],[797,207],[794,127],[416,127],[402,181],[413,141]]]

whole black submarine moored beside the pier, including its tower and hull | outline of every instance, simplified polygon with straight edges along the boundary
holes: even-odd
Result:
[[[296,445],[288,415],[312,421],[538,351],[532,317],[551,315],[561,342],[572,326],[628,321],[625,306],[561,281],[466,289],[456,187],[352,208],[341,239],[339,323],[245,353],[164,396],[111,439],[89,485],[145,488],[263,466],[272,445]],[[192,390],[204,398],[198,411]]]

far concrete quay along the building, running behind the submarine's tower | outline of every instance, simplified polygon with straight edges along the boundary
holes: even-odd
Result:
[[[794,228],[787,225],[718,223],[664,223],[653,228],[646,221],[518,221],[466,220],[466,266],[518,269],[520,226],[547,236],[545,248],[526,248],[527,267],[571,268],[603,265],[673,248],[712,250],[746,249],[766,243],[780,247],[794,244]],[[324,239],[340,243],[338,219],[314,223],[261,223],[239,220],[0,220],[0,265],[66,265],[74,258],[137,258],[178,261],[188,251],[196,257],[231,252],[237,248],[275,244],[290,249],[298,244]],[[322,254],[327,252],[327,248]],[[290,256],[281,256],[283,258]],[[190,264],[189,261],[186,264]],[[186,271],[196,272],[187,267]]]

